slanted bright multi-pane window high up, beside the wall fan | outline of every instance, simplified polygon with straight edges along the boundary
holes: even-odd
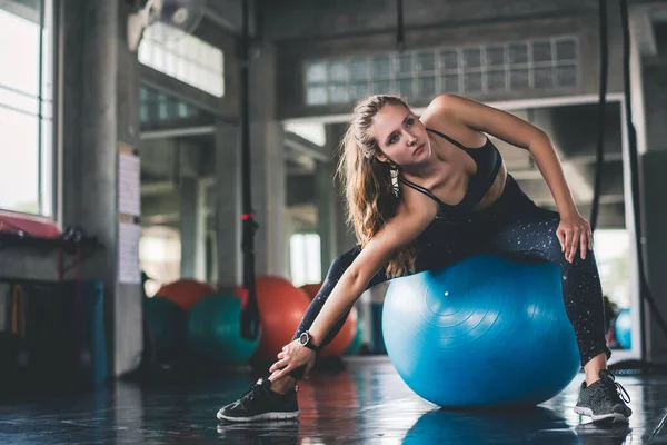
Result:
[[[213,96],[225,96],[222,51],[195,36],[155,23],[143,33],[139,61]]]

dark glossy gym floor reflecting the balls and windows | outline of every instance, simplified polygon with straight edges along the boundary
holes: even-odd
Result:
[[[573,412],[581,379],[535,409],[445,412],[411,393],[387,359],[355,360],[301,385],[299,421],[245,425],[218,423],[216,412],[246,392],[249,376],[118,383],[0,403],[0,444],[667,444],[667,375],[618,377],[635,414],[615,427]]]

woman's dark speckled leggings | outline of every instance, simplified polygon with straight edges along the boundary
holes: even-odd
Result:
[[[514,259],[537,259],[555,263],[563,273],[565,309],[575,328],[581,365],[593,357],[611,352],[605,340],[603,291],[593,251],[586,259],[578,255],[568,263],[560,248],[556,229],[560,216],[535,205],[511,176],[500,198],[489,208],[469,215],[452,224],[445,218],[434,222],[415,240],[416,273],[446,267],[464,258],[496,254]],[[342,273],[359,254],[355,247],[331,264],[327,278],[303,316],[295,338],[312,324]],[[378,271],[368,288],[387,280],[385,270]],[[329,332],[322,344],[328,344],[342,327],[347,315]]]

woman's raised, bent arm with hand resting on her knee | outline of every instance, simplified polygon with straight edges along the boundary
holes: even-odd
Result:
[[[455,95],[437,97],[429,108],[435,116],[447,116],[468,128],[529,150],[558,207],[563,224],[557,235],[566,258],[573,261],[577,248],[581,258],[586,257],[587,248],[591,248],[590,226],[577,210],[558,154],[545,131],[506,111]]]

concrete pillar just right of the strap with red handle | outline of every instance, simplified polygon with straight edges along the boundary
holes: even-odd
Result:
[[[276,49],[262,46],[250,62],[250,144],[257,275],[289,276],[285,249],[287,218],[282,125],[276,116]]]

